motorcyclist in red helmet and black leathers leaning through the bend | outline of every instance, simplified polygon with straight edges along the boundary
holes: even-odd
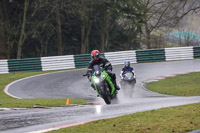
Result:
[[[112,65],[111,65],[111,63],[106,58],[100,57],[99,50],[93,50],[91,52],[91,59],[92,60],[89,62],[88,70],[87,70],[89,81],[91,81],[91,77],[92,77],[92,73],[93,73],[92,72],[93,66],[94,65],[100,65],[103,68],[105,68],[106,72],[111,77],[111,80],[112,80],[116,90],[120,90],[119,86],[116,83],[116,75],[115,75],[115,73],[112,73]],[[95,89],[93,84],[91,84],[91,86],[92,86],[92,88]]]

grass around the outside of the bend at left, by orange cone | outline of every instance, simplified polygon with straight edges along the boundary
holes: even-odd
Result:
[[[5,86],[15,80],[50,72],[55,71],[0,74],[0,108],[58,107],[65,105],[66,99],[15,99],[4,93]],[[87,104],[88,102],[83,99],[70,99],[70,104]]]

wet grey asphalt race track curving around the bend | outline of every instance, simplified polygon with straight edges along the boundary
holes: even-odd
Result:
[[[57,72],[21,80],[8,92],[19,98],[81,98],[96,100],[100,105],[0,111],[0,132],[31,132],[52,127],[67,127],[82,122],[125,114],[200,102],[200,97],[177,97],[154,93],[143,88],[143,82],[160,76],[200,71],[200,60],[135,64],[137,83],[132,98],[119,91],[117,104],[105,105],[96,97],[86,69]],[[114,66],[119,82],[122,66]]]

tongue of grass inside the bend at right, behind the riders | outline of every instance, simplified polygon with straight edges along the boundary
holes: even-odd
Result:
[[[169,77],[148,83],[146,88],[158,93],[177,96],[200,96],[200,72]]]

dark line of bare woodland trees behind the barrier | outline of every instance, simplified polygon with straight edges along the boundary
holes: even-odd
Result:
[[[1,0],[0,6],[1,59],[155,48],[155,31],[200,7],[198,0]]]

